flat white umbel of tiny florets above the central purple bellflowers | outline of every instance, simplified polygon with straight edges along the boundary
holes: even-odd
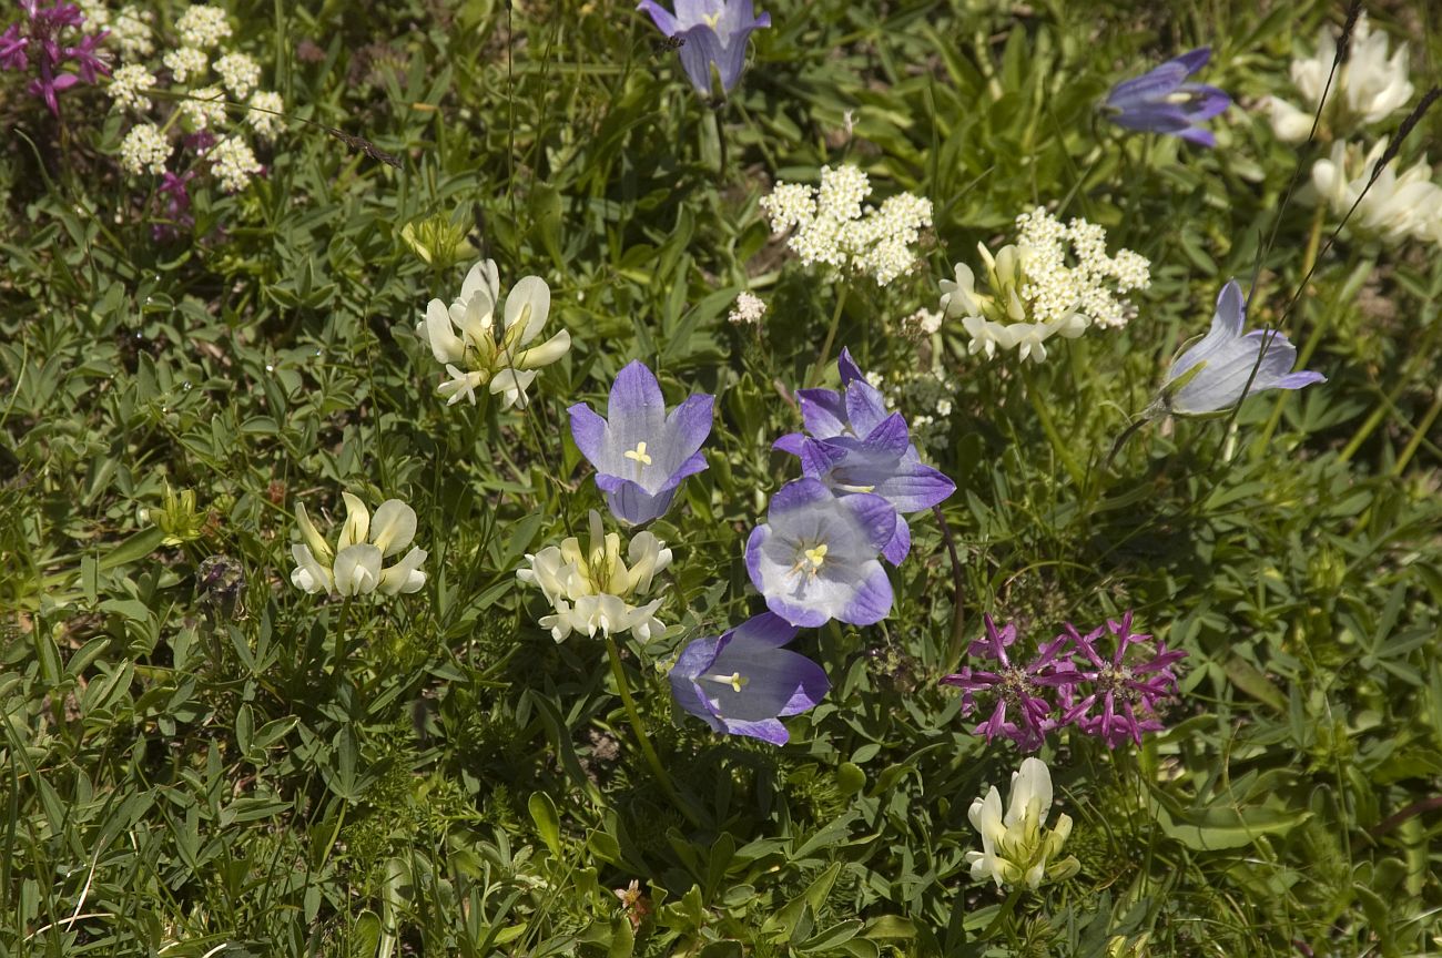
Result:
[[[898,193],[881,207],[862,206],[871,193],[867,174],[854,166],[822,167],[820,187],[777,183],[761,209],[786,245],[809,265],[822,264],[887,285],[916,265],[911,246],[932,225],[932,202]]]

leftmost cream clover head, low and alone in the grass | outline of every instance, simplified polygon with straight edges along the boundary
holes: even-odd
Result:
[[[388,498],[372,517],[359,498],[350,493],[340,496],[346,501],[346,521],[335,549],[316,530],[306,507],[296,504],[296,524],[306,542],[290,547],[296,559],[291,583],[304,592],[343,596],[420,591],[425,585],[424,549],[411,549],[395,565],[382,568],[385,559],[399,555],[415,537],[415,510]]]

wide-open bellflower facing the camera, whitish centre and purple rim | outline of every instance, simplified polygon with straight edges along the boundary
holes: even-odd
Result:
[[[792,625],[871,625],[891,611],[877,553],[895,523],[880,496],[836,496],[820,480],[800,478],[771,497],[767,521],[751,530],[746,570],[766,606]]]

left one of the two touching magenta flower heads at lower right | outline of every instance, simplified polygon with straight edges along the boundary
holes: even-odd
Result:
[[[978,693],[995,694],[996,704],[991,716],[976,726],[976,735],[985,735],[988,742],[1004,735],[1024,752],[1035,752],[1047,732],[1064,723],[1045,697],[1047,690],[1056,689],[1066,707],[1071,700],[1071,686],[1080,679],[1071,663],[1061,657],[1071,637],[1058,635],[1037,650],[1031,664],[1018,666],[1007,653],[1017,641],[1017,627],[1007,625],[998,631],[989,615],[985,624],[986,638],[972,643],[966,653],[995,660],[995,670],[965,666],[962,671],[942,679],[942,684],[962,690],[962,715],[970,715],[976,707]]]

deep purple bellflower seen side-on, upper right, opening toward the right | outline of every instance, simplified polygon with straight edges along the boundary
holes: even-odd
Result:
[[[1128,130],[1171,133],[1188,143],[1216,147],[1211,131],[1197,124],[1224,111],[1231,98],[1216,86],[1185,82],[1208,59],[1211,48],[1201,46],[1141,76],[1123,79],[1107,94],[1102,109],[1112,122]]]

